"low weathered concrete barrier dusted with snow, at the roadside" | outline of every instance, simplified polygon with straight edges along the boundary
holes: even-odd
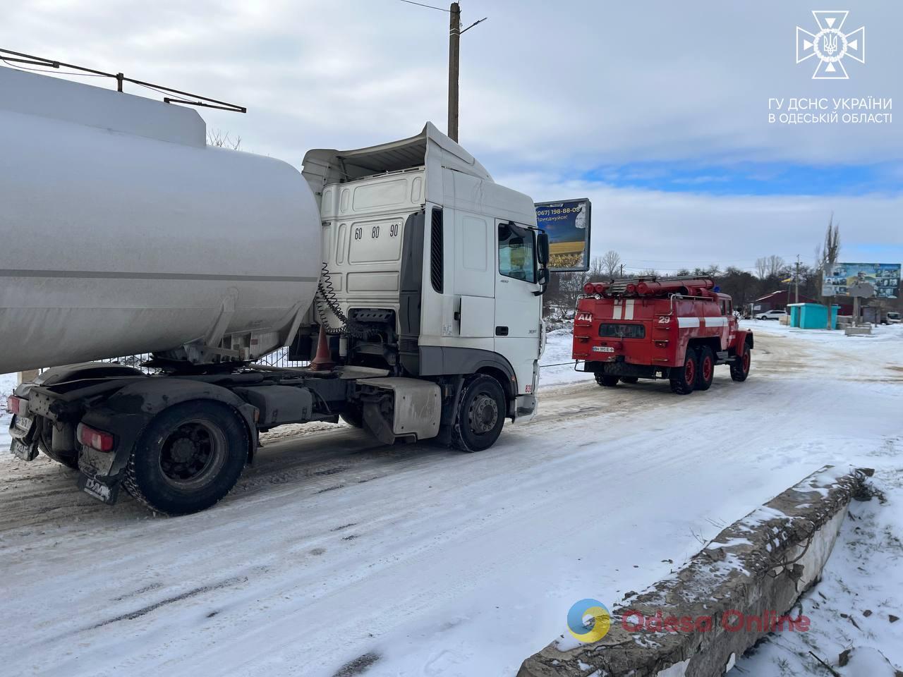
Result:
[[[625,598],[599,641],[563,635],[517,677],[714,677],[769,632],[807,630],[807,618],[787,611],[819,579],[866,474],[821,468]]]

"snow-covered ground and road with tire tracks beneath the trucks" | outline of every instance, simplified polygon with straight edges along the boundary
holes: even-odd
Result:
[[[825,463],[876,468],[888,504],[852,507],[803,601],[813,631],[738,668],[796,675],[815,670],[808,651],[850,646],[866,648],[840,674],[867,647],[899,666],[903,327],[749,324],[744,384],[719,367],[680,397],[547,367],[535,421],[489,450],[274,436],[225,501],[178,519],[0,454],[2,672],[510,677],[574,601],[645,588]],[[543,364],[569,362],[569,336],[550,334]]]

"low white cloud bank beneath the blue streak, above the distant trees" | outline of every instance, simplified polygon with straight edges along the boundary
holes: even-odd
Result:
[[[588,197],[592,255],[619,252],[628,266],[667,269],[709,264],[751,269],[759,256],[812,264],[833,212],[844,261],[903,261],[903,196],[711,196],[611,188],[588,181],[497,176],[537,201]]]

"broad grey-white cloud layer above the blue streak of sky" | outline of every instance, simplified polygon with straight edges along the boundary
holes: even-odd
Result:
[[[797,67],[796,24],[813,19],[782,0],[469,0],[465,20],[489,21],[462,38],[461,138],[506,168],[899,160],[892,125],[767,122],[768,97],[901,93],[903,5],[861,5],[848,22],[868,26],[868,62],[828,82]],[[243,118],[205,116],[287,159],[402,137],[427,118],[444,127],[447,14],[397,0],[42,0],[4,11],[0,44],[246,105]]]

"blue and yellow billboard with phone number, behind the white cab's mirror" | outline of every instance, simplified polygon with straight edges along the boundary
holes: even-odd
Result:
[[[537,202],[536,225],[549,236],[549,270],[590,270],[590,200]]]

